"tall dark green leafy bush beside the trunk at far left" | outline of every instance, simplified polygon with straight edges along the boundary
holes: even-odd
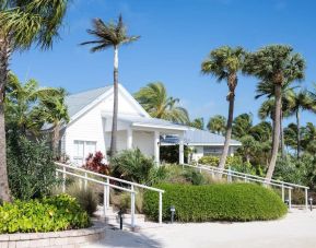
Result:
[[[8,175],[13,197],[30,200],[48,196],[58,180],[47,143],[17,134],[8,138]]]

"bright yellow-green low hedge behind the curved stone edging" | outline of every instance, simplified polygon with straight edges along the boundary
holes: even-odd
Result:
[[[90,226],[77,200],[59,194],[42,200],[4,203],[0,206],[0,234],[56,232]]]

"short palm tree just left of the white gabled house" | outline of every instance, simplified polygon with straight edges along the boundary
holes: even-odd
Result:
[[[59,154],[59,140],[61,125],[69,122],[68,107],[65,103],[67,92],[65,88],[58,88],[57,93],[40,97],[38,108],[35,110],[35,115],[40,115],[46,122],[52,125],[52,150],[58,157]]]

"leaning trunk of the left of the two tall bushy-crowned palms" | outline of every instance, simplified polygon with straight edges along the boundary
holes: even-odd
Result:
[[[230,150],[230,143],[231,143],[231,137],[232,137],[232,126],[233,126],[233,119],[234,119],[234,104],[235,104],[235,92],[230,91],[229,102],[230,102],[230,107],[229,107],[229,118],[227,118],[227,126],[226,126],[226,133],[225,133],[225,143],[224,143],[224,149],[223,153],[220,160],[220,165],[219,168],[223,169],[226,164],[226,158]]]

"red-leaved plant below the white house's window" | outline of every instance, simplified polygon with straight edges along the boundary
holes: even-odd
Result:
[[[103,175],[109,175],[109,167],[105,163],[103,163],[104,155],[102,152],[90,153],[85,158],[85,165],[82,167],[94,173],[100,173]]]

